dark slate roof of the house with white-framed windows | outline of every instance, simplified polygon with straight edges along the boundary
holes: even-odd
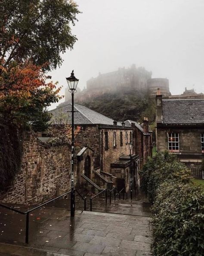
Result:
[[[164,124],[204,123],[204,99],[163,99]]]

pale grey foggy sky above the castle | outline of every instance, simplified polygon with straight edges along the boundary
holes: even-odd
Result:
[[[173,95],[185,87],[204,93],[204,0],[76,2],[83,12],[72,29],[78,41],[51,72],[53,81],[65,88],[74,69],[83,89],[99,72],[136,64],[152,71],[152,78],[168,78]]]

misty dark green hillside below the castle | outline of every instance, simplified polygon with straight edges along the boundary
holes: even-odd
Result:
[[[150,124],[155,122],[155,99],[133,88],[125,92],[104,93],[77,103],[116,121],[132,119],[142,122],[143,115],[145,115],[148,116]]]

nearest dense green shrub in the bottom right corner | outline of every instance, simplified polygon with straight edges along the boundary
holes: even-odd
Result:
[[[152,208],[156,256],[204,255],[204,191],[164,182]]]

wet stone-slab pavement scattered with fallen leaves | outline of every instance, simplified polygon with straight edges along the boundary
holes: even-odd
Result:
[[[92,212],[77,210],[74,218],[68,206],[69,200],[62,199],[33,211],[28,245],[25,215],[0,208],[0,256],[151,255],[150,205],[144,199],[132,204],[116,200],[104,207],[101,198],[93,201]]]

